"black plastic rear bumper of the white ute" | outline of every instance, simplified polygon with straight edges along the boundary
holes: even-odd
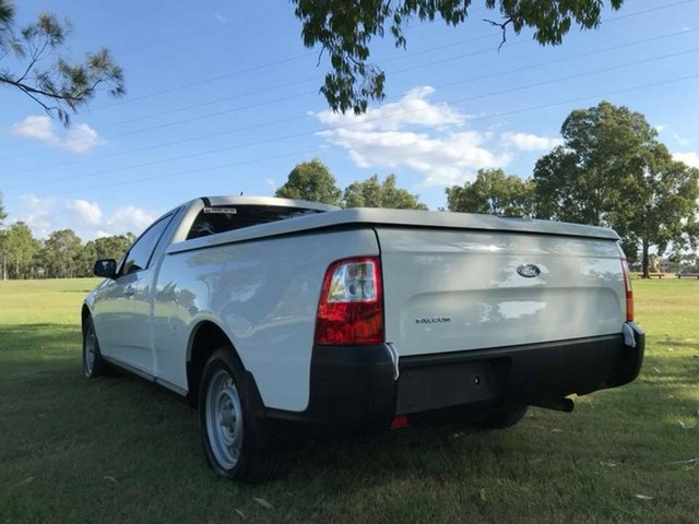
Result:
[[[477,420],[510,406],[559,400],[631,382],[643,361],[644,333],[420,355],[394,364],[386,346],[316,346],[304,412],[265,409],[284,440],[372,432],[395,415],[412,420]]]

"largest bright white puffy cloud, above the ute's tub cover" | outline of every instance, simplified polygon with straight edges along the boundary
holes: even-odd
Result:
[[[359,167],[404,167],[423,175],[427,186],[461,183],[479,168],[509,162],[508,154],[486,147],[490,133],[461,130],[465,115],[447,104],[430,103],[427,98],[434,92],[429,86],[416,87],[399,102],[359,116],[315,114],[333,126],[319,134],[347,150]]]

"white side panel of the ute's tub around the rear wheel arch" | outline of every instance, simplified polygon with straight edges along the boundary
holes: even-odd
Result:
[[[306,409],[323,276],[335,260],[378,255],[374,230],[310,230],[205,249],[197,240],[178,246],[165,254],[155,290],[158,376],[188,390],[189,335],[210,321],[254,377],[264,406]]]

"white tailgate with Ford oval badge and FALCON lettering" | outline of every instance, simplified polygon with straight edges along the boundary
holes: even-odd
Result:
[[[621,332],[626,301],[614,238],[405,226],[376,231],[386,340],[400,356]],[[520,274],[528,270],[529,276]]]

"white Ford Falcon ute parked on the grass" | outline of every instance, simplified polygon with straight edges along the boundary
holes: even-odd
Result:
[[[209,463],[245,480],[317,436],[569,412],[643,358],[600,227],[201,198],[95,274],[85,376],[115,365],[187,395]]]

